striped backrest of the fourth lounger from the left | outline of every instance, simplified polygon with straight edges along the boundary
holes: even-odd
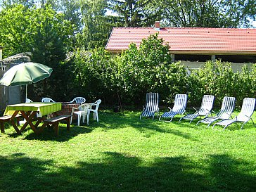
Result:
[[[235,102],[236,98],[231,96],[224,96],[222,100],[222,108],[217,115],[219,119],[229,119],[231,113],[233,112]]]

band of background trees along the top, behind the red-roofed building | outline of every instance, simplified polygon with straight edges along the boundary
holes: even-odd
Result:
[[[254,0],[0,0],[0,7],[4,56],[30,51],[30,31],[39,26],[32,14],[40,8],[51,7],[60,23],[69,23],[63,40],[73,49],[104,47],[113,27],[152,27],[155,20],[163,27],[252,27],[256,19]]]

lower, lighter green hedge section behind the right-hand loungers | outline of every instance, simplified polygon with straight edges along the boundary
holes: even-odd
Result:
[[[243,98],[255,97],[253,72],[244,65],[241,72],[233,73],[231,63],[207,61],[204,68],[194,70],[188,77],[190,100],[193,105],[200,105],[204,94],[212,94],[215,104],[221,105],[224,96],[234,96],[236,105],[241,106]]]

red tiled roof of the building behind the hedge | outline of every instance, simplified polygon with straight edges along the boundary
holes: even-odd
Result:
[[[156,32],[171,53],[256,54],[256,29],[233,28],[114,27],[105,49],[121,52],[132,42],[139,47],[141,39]]]

